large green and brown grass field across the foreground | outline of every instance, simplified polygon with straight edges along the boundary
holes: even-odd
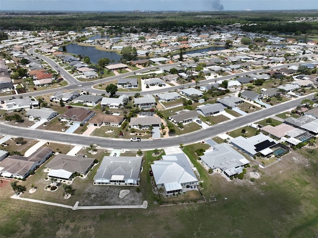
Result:
[[[202,193],[206,198],[214,194],[216,202],[164,207],[155,205],[149,165],[159,157],[153,157],[153,152],[147,151],[144,152],[140,186],[140,193],[149,202],[147,209],[73,211],[13,200],[9,198],[13,190],[7,184],[0,193],[0,235],[19,238],[102,238],[105,233],[109,237],[120,237],[122,234],[129,234],[128,237],[170,238],[317,237],[317,150],[302,148],[284,156],[281,162],[267,169],[258,168],[261,177],[252,183],[248,178],[252,168],[247,169],[244,180],[227,181],[217,173],[209,175],[194,155],[194,150],[200,146],[207,145],[186,146],[184,152],[204,180]],[[44,167],[18,184],[25,185],[27,190],[32,183],[38,186],[35,193],[26,191],[24,197],[74,205],[83,195],[93,199],[94,193],[87,188],[91,187],[89,184],[97,168],[98,165],[86,179],[75,179],[72,184],[76,189],[75,194],[67,200],[63,198],[61,187],[56,192],[44,191],[43,187],[49,184],[44,181],[46,174],[41,172]],[[189,193],[189,196],[192,195]],[[120,231],[118,224],[124,224],[120,226]]]

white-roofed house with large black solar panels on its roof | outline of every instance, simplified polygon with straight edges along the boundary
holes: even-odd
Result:
[[[238,136],[231,140],[231,144],[249,156],[258,153],[262,156],[268,156],[274,151],[271,149],[278,144],[278,141],[262,133],[248,138]]]

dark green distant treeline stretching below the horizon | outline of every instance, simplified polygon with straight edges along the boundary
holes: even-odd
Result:
[[[295,17],[317,17],[317,11],[295,12],[2,12],[1,30],[80,30],[89,26],[115,26],[157,28],[179,31],[189,27],[245,24],[243,30],[251,32],[311,33],[317,31],[318,22],[288,23]],[[250,23],[257,23],[250,25]]]

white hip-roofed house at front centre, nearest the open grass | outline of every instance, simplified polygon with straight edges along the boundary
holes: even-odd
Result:
[[[151,169],[159,188],[166,194],[182,192],[184,188],[195,188],[198,179],[183,153],[164,155],[162,160],[154,161]]]

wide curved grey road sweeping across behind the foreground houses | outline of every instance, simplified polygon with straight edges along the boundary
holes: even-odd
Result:
[[[314,94],[306,96],[306,98],[314,98]],[[214,126],[211,126],[207,129],[201,129],[194,131],[188,134],[171,136],[168,138],[162,138],[160,140],[142,140],[140,142],[131,142],[125,139],[113,139],[113,138],[104,138],[97,136],[83,136],[79,134],[68,134],[64,132],[56,131],[46,131],[39,129],[29,129],[25,127],[18,126],[9,126],[4,123],[1,123],[0,134],[6,134],[10,136],[20,136],[25,138],[40,139],[54,142],[69,143],[72,145],[79,146],[89,146],[90,144],[96,143],[102,148],[114,148],[114,149],[153,149],[153,148],[164,148],[170,146],[178,146],[182,144],[190,144],[193,142],[198,142],[206,138],[211,138],[217,136],[220,133],[226,131],[231,131],[242,125],[252,123],[267,117],[270,117],[275,114],[290,110],[297,107],[304,97],[293,99],[291,101],[276,105],[271,108],[265,108],[260,111],[241,116],[234,120],[225,121]]]

